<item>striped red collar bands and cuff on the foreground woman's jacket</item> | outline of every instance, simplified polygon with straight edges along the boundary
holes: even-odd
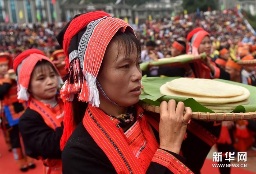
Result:
[[[156,151],[160,150],[158,149],[159,144],[148,128],[147,118],[146,115],[143,114],[143,109],[139,106],[136,106],[136,109],[137,118],[140,118],[137,122],[139,122],[141,129],[137,127],[137,131],[132,134],[139,134],[140,130],[142,130],[142,134],[144,138],[146,138],[146,146],[137,158],[134,152],[138,150],[138,145],[141,142],[136,142],[135,144],[133,144],[133,142],[129,144],[130,138],[125,136],[123,129],[116,125],[113,118],[110,119],[110,117],[102,110],[97,107],[92,107],[91,104],[89,104],[83,118],[84,127],[91,137],[93,137],[97,145],[107,155],[117,173],[146,173],[148,166],[152,162],[152,158],[154,158],[153,156],[156,155]],[[139,125],[137,124],[135,127]],[[140,137],[139,139],[141,141],[143,137]],[[169,158],[171,162],[166,163],[165,160]],[[157,159],[154,162],[160,163],[171,171],[176,171],[176,173],[177,171],[189,173],[188,171],[190,170],[187,169],[184,164],[174,163],[174,160],[174,158],[166,156],[165,158],[162,158],[162,160]]]

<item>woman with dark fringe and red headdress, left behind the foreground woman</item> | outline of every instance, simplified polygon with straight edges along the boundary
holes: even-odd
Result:
[[[63,81],[52,61],[37,49],[19,54],[13,63],[18,99],[28,102],[19,120],[26,154],[44,163],[44,174],[61,174],[60,138],[64,104],[57,95]]]

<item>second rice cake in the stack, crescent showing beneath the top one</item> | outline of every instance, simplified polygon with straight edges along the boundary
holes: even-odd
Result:
[[[232,103],[232,102],[238,102],[238,101],[242,101],[245,99],[248,99],[250,96],[250,92],[249,90],[247,90],[244,87],[240,87],[244,91],[243,95],[239,95],[239,96],[234,96],[234,97],[228,97],[228,98],[224,98],[224,97],[211,97],[211,96],[199,96],[199,95],[193,95],[193,94],[187,94],[187,93],[183,93],[183,92],[177,92],[177,91],[173,91],[170,90],[166,84],[163,84],[160,87],[160,93],[162,95],[170,95],[170,96],[180,96],[180,97],[186,97],[186,98],[193,98],[195,99],[197,102],[202,102],[202,103]]]

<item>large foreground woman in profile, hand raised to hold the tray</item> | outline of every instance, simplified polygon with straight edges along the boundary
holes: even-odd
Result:
[[[162,102],[158,133],[136,104],[140,44],[130,25],[105,12],[79,14],[57,40],[69,59],[61,89],[64,174],[192,173],[178,155],[191,108]]]

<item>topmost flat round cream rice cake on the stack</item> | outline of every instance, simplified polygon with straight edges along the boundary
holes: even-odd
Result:
[[[170,90],[212,97],[233,97],[244,94],[237,85],[211,79],[178,78],[166,83]]]

